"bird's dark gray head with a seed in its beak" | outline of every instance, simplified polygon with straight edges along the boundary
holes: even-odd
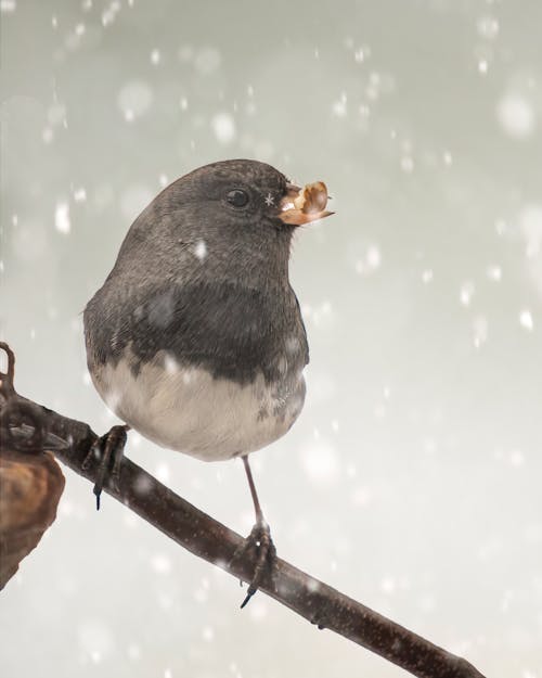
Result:
[[[134,222],[126,248],[144,241],[171,266],[177,252],[186,274],[201,272],[190,261],[199,247],[209,272],[273,276],[274,267],[283,276],[294,230],[331,215],[326,203],[322,181],[301,189],[266,163],[212,163],[164,189]]]

